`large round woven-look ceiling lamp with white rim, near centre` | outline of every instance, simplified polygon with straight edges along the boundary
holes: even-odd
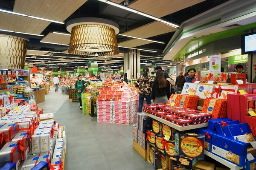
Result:
[[[102,18],[76,18],[67,22],[71,33],[68,52],[76,55],[113,56],[119,54],[116,34],[119,26]]]

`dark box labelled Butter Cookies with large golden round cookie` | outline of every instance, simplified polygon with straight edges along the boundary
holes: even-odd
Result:
[[[175,154],[193,159],[204,160],[204,134],[175,134]],[[178,149],[178,150],[177,150]]]

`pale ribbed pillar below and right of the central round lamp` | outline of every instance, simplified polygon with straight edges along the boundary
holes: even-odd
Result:
[[[136,79],[140,73],[140,50],[128,49],[124,56],[124,74],[130,70],[130,78]]]

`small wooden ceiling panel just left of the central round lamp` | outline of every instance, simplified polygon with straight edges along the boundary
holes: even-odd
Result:
[[[53,43],[59,43],[59,44],[69,44],[70,36],[49,32],[46,36],[44,36],[44,38],[41,41],[53,42]]]

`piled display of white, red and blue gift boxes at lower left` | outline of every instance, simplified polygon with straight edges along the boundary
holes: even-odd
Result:
[[[0,169],[48,169],[50,163],[55,169],[64,168],[66,128],[54,121],[52,113],[43,113],[35,100],[22,99],[0,105],[0,113]]]

